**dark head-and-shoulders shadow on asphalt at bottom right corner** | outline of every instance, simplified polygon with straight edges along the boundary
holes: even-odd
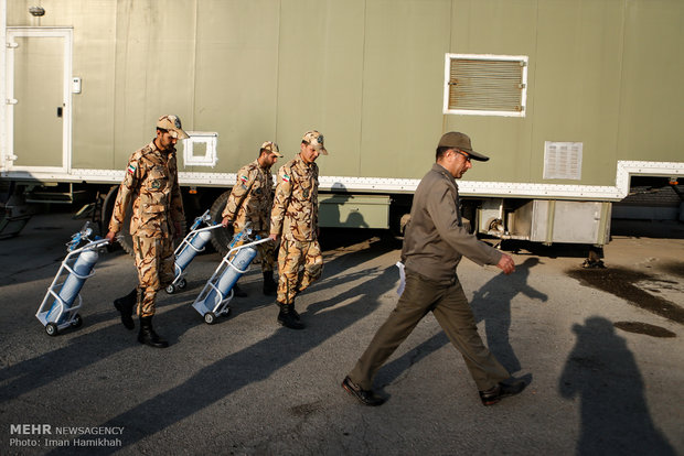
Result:
[[[612,324],[590,317],[573,330],[577,344],[558,390],[563,398],[580,401],[581,436],[576,454],[674,455],[651,420],[634,357]]]

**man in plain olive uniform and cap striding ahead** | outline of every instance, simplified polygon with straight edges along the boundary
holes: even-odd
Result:
[[[402,249],[406,269],[404,292],[342,381],[342,388],[365,405],[384,402],[372,390],[373,378],[428,312],[432,312],[461,352],[482,404],[492,405],[525,388],[522,380],[503,382],[511,374],[482,344],[456,274],[463,256],[480,265],[495,264],[505,274],[515,270],[510,256],[479,241],[461,219],[456,180],[472,167],[471,160],[484,162],[489,158],[472,150],[468,135],[456,131],[443,134],[437,146],[436,163],[416,188]]]

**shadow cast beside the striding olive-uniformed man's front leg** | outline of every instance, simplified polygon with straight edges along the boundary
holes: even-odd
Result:
[[[532,300],[543,302],[548,300],[545,293],[527,284],[530,270],[538,263],[538,258],[526,259],[523,263],[515,265],[515,272],[512,274],[496,274],[472,297],[471,306],[475,322],[484,322],[487,345],[509,372],[516,372],[521,369],[520,361],[509,340],[511,302],[519,293]]]

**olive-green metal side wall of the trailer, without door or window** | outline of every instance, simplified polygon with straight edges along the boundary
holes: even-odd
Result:
[[[682,161],[681,0],[42,0],[8,25],[73,26],[73,166],[122,169],[160,113],[217,131],[235,172],[266,140],[325,135],[321,174],[419,178],[443,131],[490,154],[467,180],[613,185],[617,160]],[[526,117],[443,115],[446,53],[530,57]],[[584,143],[544,181],[544,141]]]

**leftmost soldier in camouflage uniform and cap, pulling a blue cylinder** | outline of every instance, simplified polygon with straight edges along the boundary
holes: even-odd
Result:
[[[115,300],[121,323],[133,329],[133,306],[140,317],[138,341],[151,347],[169,346],[152,328],[157,292],[174,279],[173,238],[185,222],[178,183],[175,143],[189,138],[175,116],[157,121],[157,138],[136,151],[128,161],[126,176],[109,221],[107,239],[113,242],[124,226],[126,208],[132,199],[130,234],[133,239],[139,285],[128,295]]]

